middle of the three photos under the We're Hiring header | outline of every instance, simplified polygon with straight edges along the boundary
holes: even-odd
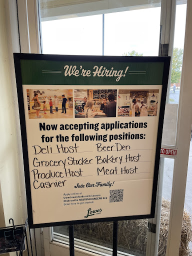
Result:
[[[116,117],[116,89],[74,90],[74,113],[79,117]]]

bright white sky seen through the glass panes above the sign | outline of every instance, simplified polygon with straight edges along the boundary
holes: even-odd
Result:
[[[186,4],[176,6],[174,47],[183,48]],[[104,55],[157,56],[160,7],[104,15]],[[102,55],[102,15],[42,21],[43,53]]]

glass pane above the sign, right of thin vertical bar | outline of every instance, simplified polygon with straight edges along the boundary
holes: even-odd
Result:
[[[107,13],[104,15],[104,55],[136,55],[137,52],[157,56],[159,31],[160,7]]]

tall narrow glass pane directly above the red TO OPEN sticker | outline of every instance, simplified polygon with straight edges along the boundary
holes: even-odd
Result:
[[[177,110],[180,95],[180,78],[184,47],[184,32],[186,19],[186,4],[176,5],[175,31],[172,56],[172,69],[170,89],[168,90],[168,103],[165,107],[162,144],[175,146]],[[171,104],[171,105],[170,105]]]

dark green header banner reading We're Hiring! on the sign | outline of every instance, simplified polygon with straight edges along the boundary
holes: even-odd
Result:
[[[107,57],[106,57],[107,58]],[[126,61],[52,61],[21,59],[23,84],[60,85],[153,85],[162,84],[164,62]],[[123,60],[123,61],[122,61]],[[127,59],[128,60],[128,59]],[[130,60],[130,58],[129,58]]]

